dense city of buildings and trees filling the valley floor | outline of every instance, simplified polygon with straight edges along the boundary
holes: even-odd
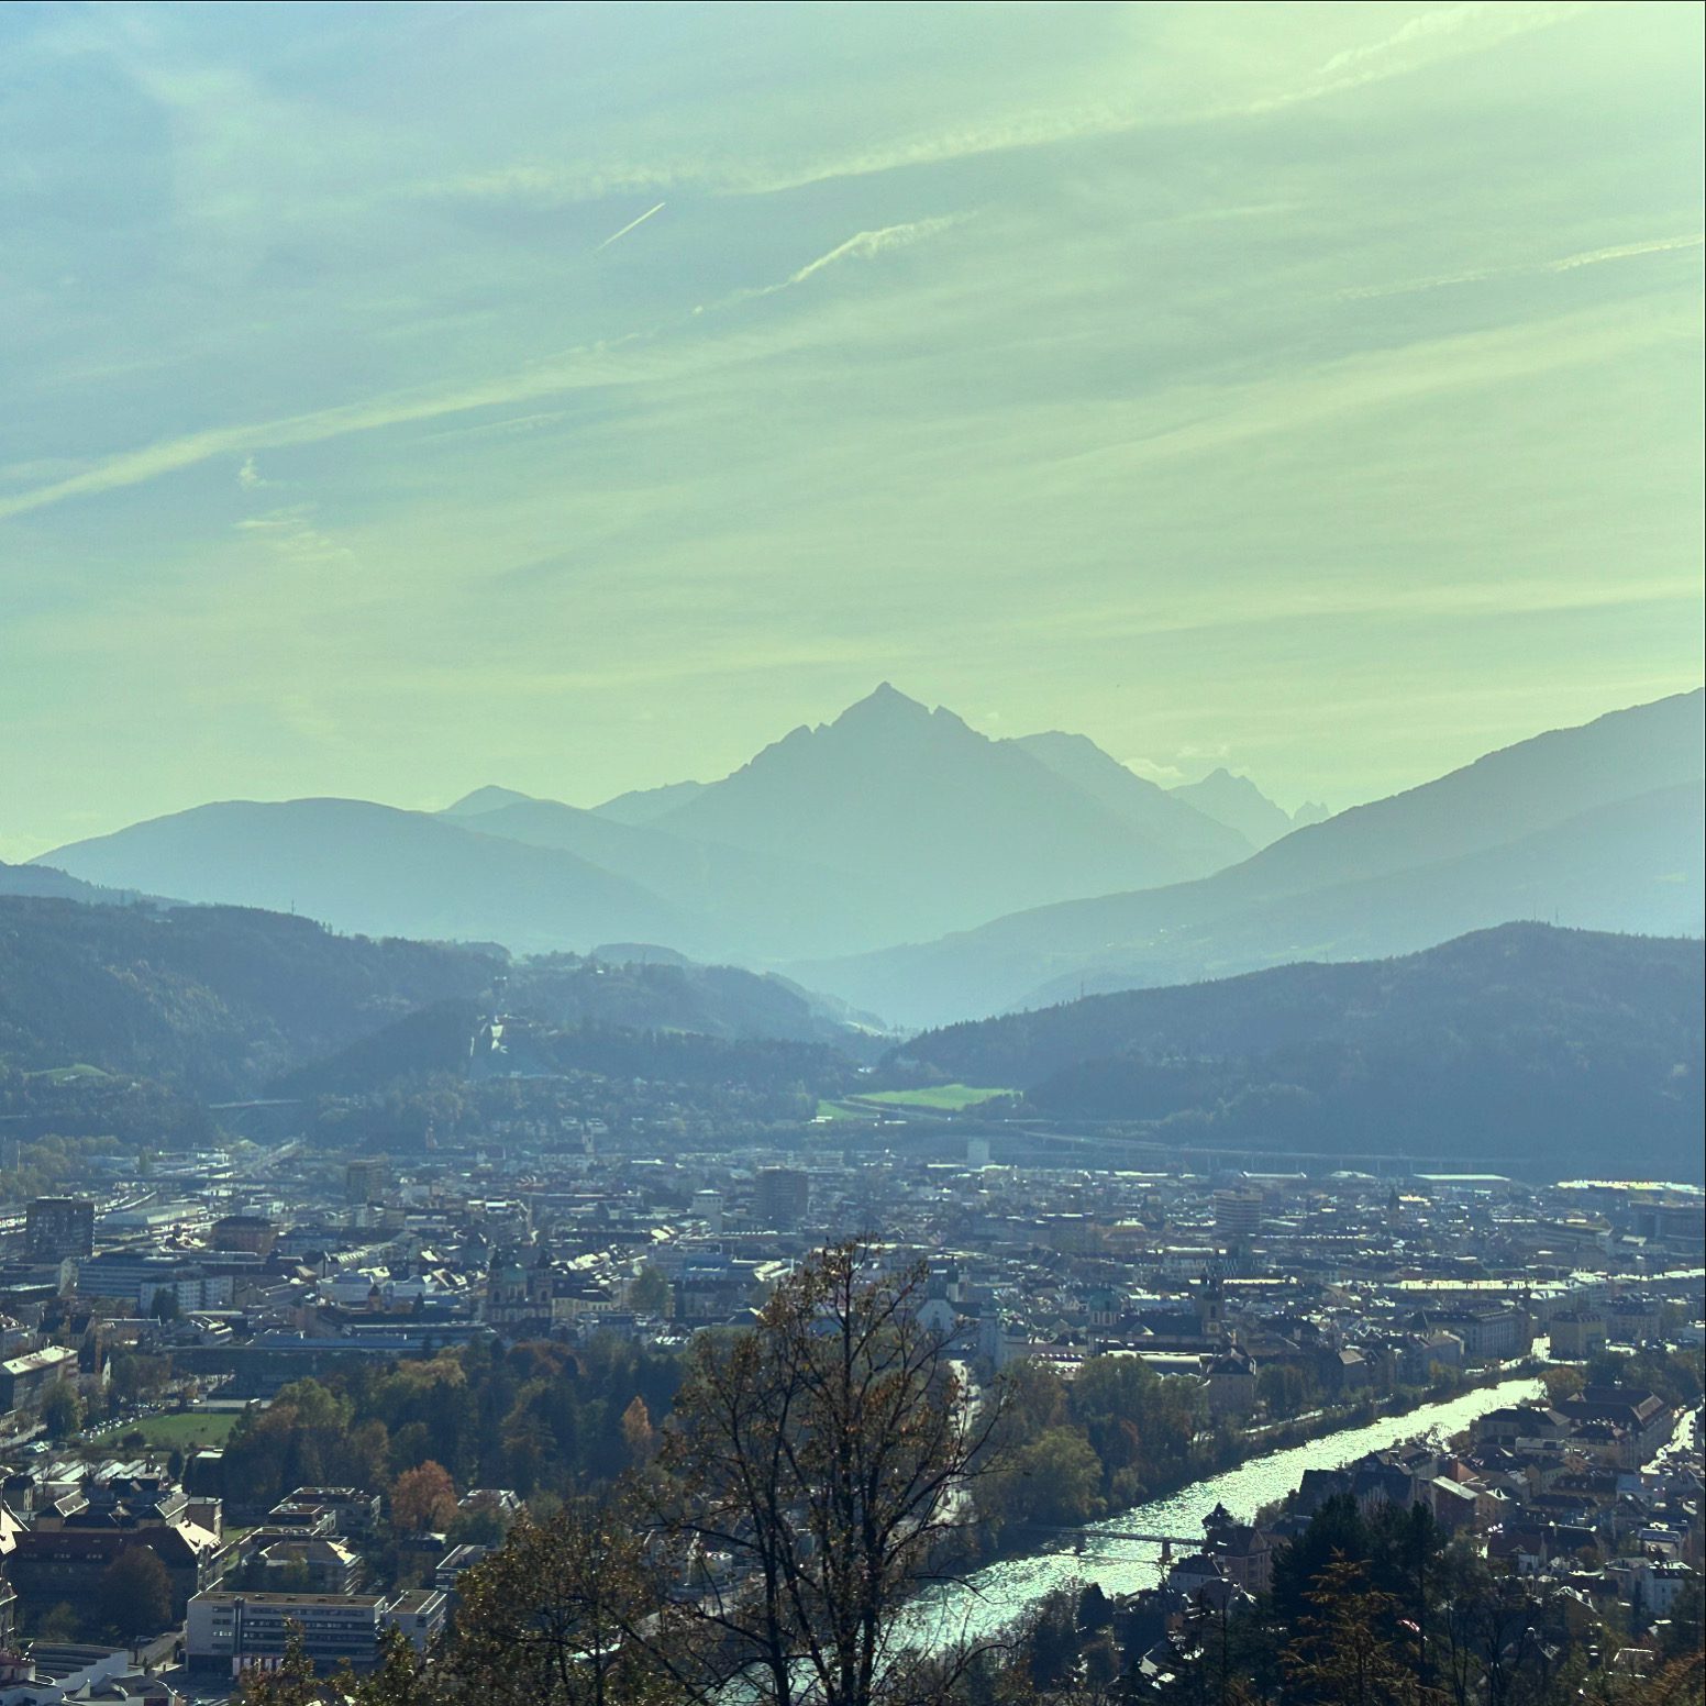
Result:
[[[0,1571],[36,1692],[5,1697],[222,1699],[293,1639],[322,1672],[437,1651],[517,1523],[643,1472],[694,1338],[848,1239],[862,1283],[923,1264],[916,1322],[1024,1414],[954,1544],[1041,1697],[1174,1697],[1322,1513],[1425,1510],[1532,1619],[1525,1687],[1617,1697],[1689,1648],[1697,1187],[1114,1169],[904,1102],[667,1158],[597,1124],[113,1152],[99,1194],[31,1201]],[[1281,1460],[1259,1510],[1148,1515]],[[1008,1585],[1012,1558],[1049,1568]]]

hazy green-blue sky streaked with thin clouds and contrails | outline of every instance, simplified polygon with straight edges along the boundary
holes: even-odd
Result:
[[[1677,5],[0,9],[0,856],[879,679],[1334,805],[1701,679]]]

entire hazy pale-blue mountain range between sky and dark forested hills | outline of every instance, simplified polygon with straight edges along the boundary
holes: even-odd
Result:
[[[884,684],[720,781],[594,809],[500,786],[442,812],[218,802],[0,867],[0,892],[520,954],[650,945],[916,1027],[1506,920],[1699,933],[1703,771],[1696,691],[1309,822],[1228,771],[1163,790],[1083,735],[995,740]]]

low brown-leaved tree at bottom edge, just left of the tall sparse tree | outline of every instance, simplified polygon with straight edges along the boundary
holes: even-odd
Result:
[[[662,1588],[628,1513],[565,1506],[520,1522],[457,1583],[450,1692],[490,1706],[641,1706],[676,1692]]]

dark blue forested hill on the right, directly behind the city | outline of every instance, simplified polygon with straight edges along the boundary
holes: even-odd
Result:
[[[1697,940],[1505,925],[950,1025],[889,1071],[1010,1085],[1170,1148],[1375,1148],[1556,1179],[1617,1145],[1648,1177],[1699,1179],[1703,971]]]

